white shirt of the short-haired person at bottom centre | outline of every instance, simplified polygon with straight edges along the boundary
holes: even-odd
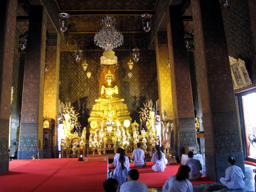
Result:
[[[146,183],[131,180],[121,185],[120,192],[148,192],[148,186]]]

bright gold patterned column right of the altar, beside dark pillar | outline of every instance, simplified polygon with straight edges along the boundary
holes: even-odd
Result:
[[[171,74],[170,68],[167,66],[167,62],[169,62],[168,54],[168,44],[159,44],[159,41],[158,43],[156,42],[160,114],[163,113],[163,109],[165,108],[168,119],[173,119]]]

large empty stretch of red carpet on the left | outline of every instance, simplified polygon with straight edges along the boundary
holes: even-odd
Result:
[[[78,158],[33,160],[0,175],[0,191],[102,192],[107,177],[107,160],[90,163],[78,161]]]

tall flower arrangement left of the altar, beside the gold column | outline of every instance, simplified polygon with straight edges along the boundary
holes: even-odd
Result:
[[[72,124],[74,125],[76,130],[77,130],[77,128],[81,127],[81,124],[78,121],[78,118],[80,117],[79,113],[76,110],[74,110],[74,107],[71,107],[71,102],[66,102],[65,103],[62,114],[60,114],[60,116],[59,116],[59,121],[58,121],[59,124],[63,124],[65,122],[64,115],[66,115],[66,114],[70,115],[69,122],[70,122],[71,125]]]

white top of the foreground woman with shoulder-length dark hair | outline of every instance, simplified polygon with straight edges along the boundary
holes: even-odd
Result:
[[[163,185],[164,192],[193,192],[192,183],[188,179],[177,181],[176,175],[169,177]]]

